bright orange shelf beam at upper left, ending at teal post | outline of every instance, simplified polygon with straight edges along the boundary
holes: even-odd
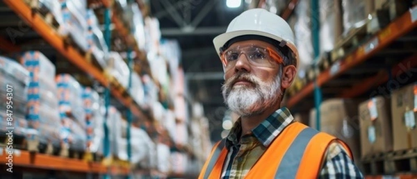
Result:
[[[74,63],[77,67],[87,72],[98,80],[102,85],[107,86],[108,80],[104,78],[99,69],[94,67],[92,64],[88,63],[81,54],[76,51],[72,46],[65,46],[63,37],[60,37],[58,33],[51,28],[44,19],[36,13],[32,13],[32,10],[29,6],[24,3],[22,0],[4,0],[11,9],[13,9],[17,15],[22,17],[29,26],[33,28],[39,35],[43,37],[44,40],[49,42],[51,46],[59,51],[65,58]]]

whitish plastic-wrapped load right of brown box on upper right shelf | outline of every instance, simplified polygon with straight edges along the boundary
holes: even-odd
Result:
[[[343,8],[343,33],[348,33],[351,29],[363,26],[367,15],[365,13],[365,1],[362,0],[342,0]]]

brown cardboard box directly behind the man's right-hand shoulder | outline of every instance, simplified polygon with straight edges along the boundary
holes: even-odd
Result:
[[[358,101],[352,99],[328,99],[320,105],[320,131],[343,140],[350,146],[355,159],[361,156],[357,106]],[[310,125],[316,128],[316,115],[311,117]],[[359,166],[359,160],[356,162]]]

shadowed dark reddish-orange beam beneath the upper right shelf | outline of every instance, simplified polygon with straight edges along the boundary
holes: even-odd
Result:
[[[400,65],[402,65],[402,67],[400,67]],[[411,56],[410,58],[407,58],[406,60],[402,60],[402,62],[400,62],[398,65],[395,65],[395,67],[391,69],[391,74],[394,75],[393,77],[398,77],[400,74],[404,74],[407,70],[416,66],[417,66],[417,54],[414,54],[414,56]],[[388,74],[386,74],[386,71],[381,71],[380,73],[383,73],[383,74],[377,74],[373,77],[363,80],[363,82],[358,83],[357,85],[354,85],[350,89],[343,90],[339,97],[353,98],[353,97],[363,94],[364,92],[368,91],[372,87],[376,87],[377,85],[384,84],[386,81],[389,80],[389,76]],[[400,83],[399,81],[397,82]]]

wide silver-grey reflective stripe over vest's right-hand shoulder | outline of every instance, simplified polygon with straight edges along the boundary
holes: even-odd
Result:
[[[309,144],[311,138],[316,134],[318,134],[317,130],[314,130],[313,128],[304,128],[304,130],[295,137],[295,140],[284,154],[284,157],[282,157],[281,164],[279,164],[277,173],[275,173],[275,178],[295,178],[305,148],[307,144]]]

